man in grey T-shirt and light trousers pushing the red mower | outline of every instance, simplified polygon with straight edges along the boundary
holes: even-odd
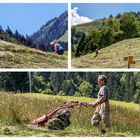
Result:
[[[98,126],[101,128],[101,133],[106,133],[106,130],[103,129],[100,124],[101,121],[104,122],[106,128],[110,127],[110,116],[109,116],[109,100],[108,100],[108,88],[106,86],[106,76],[99,75],[98,84],[100,90],[98,92],[98,98],[95,102],[90,103],[92,107],[95,107],[96,110],[91,119],[91,123],[93,126]]]

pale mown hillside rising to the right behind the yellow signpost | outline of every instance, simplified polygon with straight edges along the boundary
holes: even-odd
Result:
[[[126,39],[99,50],[72,60],[73,68],[127,68],[125,56],[134,56],[136,64],[131,68],[140,68],[140,38]]]

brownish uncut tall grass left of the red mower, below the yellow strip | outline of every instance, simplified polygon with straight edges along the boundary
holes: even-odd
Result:
[[[30,123],[47,113],[59,100],[26,97],[24,94],[0,94],[0,122],[4,124]]]

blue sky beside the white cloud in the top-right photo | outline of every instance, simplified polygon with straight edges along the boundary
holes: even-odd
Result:
[[[109,17],[110,14],[115,16],[118,13],[140,11],[140,4],[138,3],[73,3],[72,9],[74,7],[78,7],[78,15],[90,19]]]

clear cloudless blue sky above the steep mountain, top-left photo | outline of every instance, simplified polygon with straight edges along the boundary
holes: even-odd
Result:
[[[7,25],[23,35],[36,32],[48,20],[58,17],[68,9],[66,3],[8,3],[0,4],[0,25]]]

